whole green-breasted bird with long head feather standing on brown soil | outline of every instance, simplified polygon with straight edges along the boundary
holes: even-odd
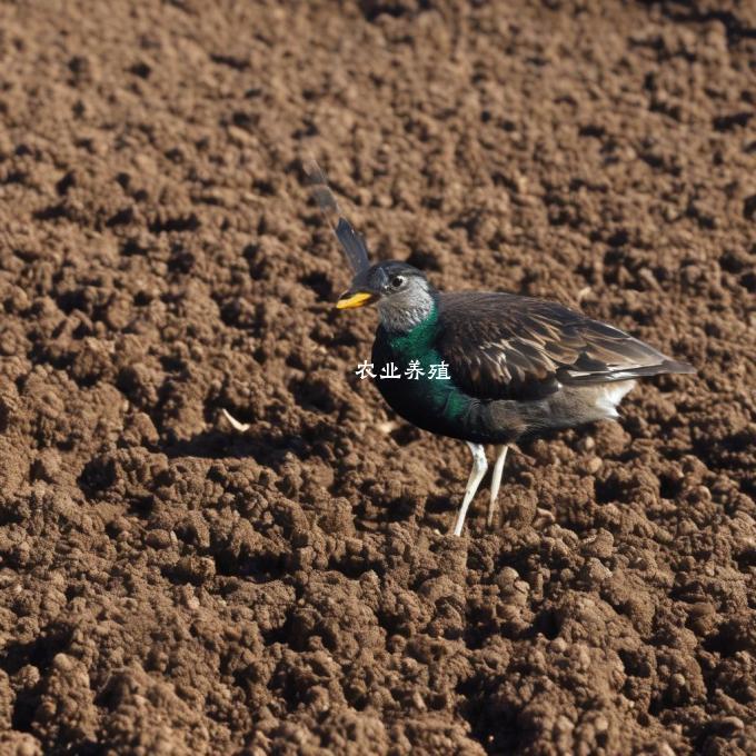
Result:
[[[336,307],[378,309],[370,364],[376,387],[410,424],[470,449],[455,536],[488,469],[487,445],[495,447],[490,527],[510,446],[618,418],[620,401],[638,379],[696,372],[565,305],[501,291],[439,291],[407,262],[370,263],[365,239],[341,212],[325,172],[312,159],[304,169],[354,272]],[[399,375],[385,377],[388,372]]]

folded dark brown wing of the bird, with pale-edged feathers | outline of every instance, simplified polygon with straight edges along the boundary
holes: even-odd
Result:
[[[442,294],[437,348],[481,399],[548,396],[560,385],[695,372],[647,344],[556,302],[511,294]]]

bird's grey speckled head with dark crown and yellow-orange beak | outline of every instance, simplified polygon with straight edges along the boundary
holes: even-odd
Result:
[[[411,265],[388,260],[358,272],[336,302],[340,310],[377,302],[389,330],[409,330],[430,314],[435,289]]]

